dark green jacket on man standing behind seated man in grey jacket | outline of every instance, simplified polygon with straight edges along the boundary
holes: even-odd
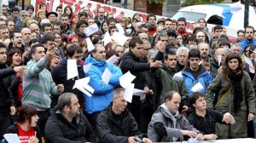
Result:
[[[162,92],[160,94],[160,103],[158,104],[158,106],[160,106],[161,104],[165,103],[165,96],[166,93],[172,90],[177,91],[180,95],[181,98],[183,100],[182,105],[186,105],[188,106],[188,101],[187,101],[187,97],[188,97],[188,92],[187,89],[185,87],[185,84],[183,83],[183,81],[176,81],[174,79],[172,79],[172,77],[174,76],[174,74],[176,73],[175,69],[172,68],[168,68],[166,66],[161,68],[158,68],[154,73],[153,76],[156,78],[160,78],[160,81],[162,83]],[[181,106],[182,106],[181,105]]]

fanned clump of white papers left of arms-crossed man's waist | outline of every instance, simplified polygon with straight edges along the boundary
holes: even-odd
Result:
[[[90,85],[88,85],[89,82],[90,82],[90,77],[84,77],[82,79],[76,80],[75,84],[73,85],[73,89],[79,89],[81,92],[83,92],[84,94],[90,97],[91,94],[94,93],[94,89],[92,89]]]

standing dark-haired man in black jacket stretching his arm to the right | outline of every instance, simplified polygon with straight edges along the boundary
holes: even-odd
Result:
[[[132,81],[134,83],[134,89],[142,89],[146,94],[150,93],[148,88],[148,81],[145,77],[145,72],[148,72],[154,67],[160,67],[162,65],[161,61],[154,61],[152,63],[145,63],[143,58],[144,44],[143,40],[139,37],[132,37],[129,43],[130,50],[122,58],[120,68],[125,74],[130,71],[132,75],[136,78]],[[143,123],[146,123],[145,117],[143,117],[143,105],[140,100],[140,96],[133,96],[131,104],[127,106],[128,110],[131,112],[132,116],[135,118],[138,129],[146,131],[143,129]]]

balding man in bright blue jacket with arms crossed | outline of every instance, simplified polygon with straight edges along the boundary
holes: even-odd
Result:
[[[84,95],[84,110],[93,129],[96,130],[96,117],[112,101],[113,89],[119,85],[119,77],[123,75],[119,67],[109,65],[106,62],[106,49],[101,44],[96,44],[95,49],[85,60],[85,64],[91,63],[89,72],[85,77],[90,77],[89,85],[94,89],[92,96]],[[102,74],[108,68],[112,76],[109,83],[102,81]]]

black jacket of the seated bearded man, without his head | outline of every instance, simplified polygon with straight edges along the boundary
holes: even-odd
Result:
[[[96,142],[96,135],[82,112],[70,123],[57,107],[52,109],[51,116],[45,124],[45,139],[48,143],[84,143]]]

